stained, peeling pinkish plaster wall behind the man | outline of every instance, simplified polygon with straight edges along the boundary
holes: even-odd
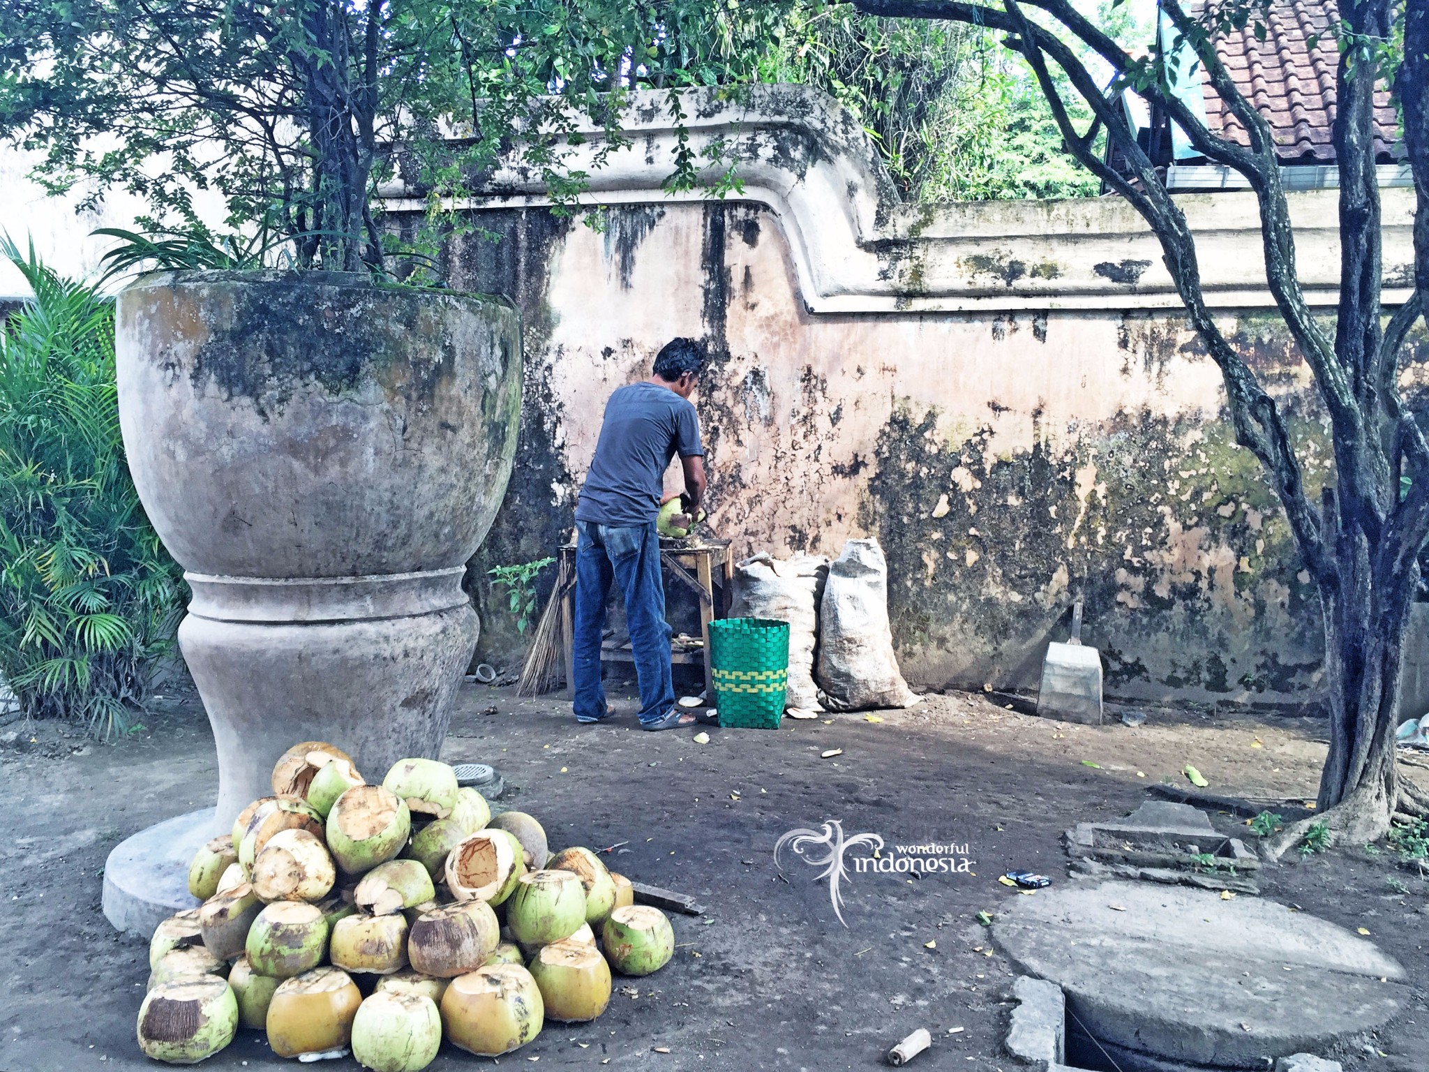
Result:
[[[449,250],[453,286],[510,294],[526,317],[526,422],[486,563],[540,557],[569,533],[604,399],[687,334],[714,354],[696,399],[713,529],[740,553],[837,555],[845,539],[876,535],[912,680],[1036,688],[1046,642],[1063,636],[1085,590],[1083,636],[1105,652],[1113,695],[1313,696],[1318,599],[1273,492],[1222,420],[1219,370],[1173,302],[1139,283],[1150,274],[1145,236],[1099,260],[1116,243],[1097,227],[1126,229],[1125,206],[1017,206],[1059,232],[1040,262],[1027,259],[1036,243],[997,253],[1017,207],[979,217],[952,206],[923,222],[922,247],[880,254],[893,274],[942,263],[940,292],[925,284],[897,307],[867,296],[875,280],[859,299],[867,312],[843,312],[827,294],[815,309],[817,272],[799,263],[817,244],[809,227],[830,217],[800,219],[789,196],[632,193],[603,232],[527,200],[472,206],[500,239]],[[1309,372],[1279,319],[1249,303],[1259,237],[1243,226],[1245,199],[1216,206],[1198,202],[1193,223],[1246,262],[1213,269],[1236,296],[1226,329],[1292,415],[1315,485],[1329,456]],[[1332,209],[1333,194],[1296,206],[1322,230]],[[967,253],[975,240],[983,253]],[[1335,257],[1323,240],[1308,256]],[[1056,273],[1037,269],[1053,263]],[[1080,282],[1047,293],[1053,274]],[[1039,296],[1049,307],[1027,307]],[[1406,387],[1429,379],[1423,356]],[[512,640],[500,617],[483,615],[493,643]]]

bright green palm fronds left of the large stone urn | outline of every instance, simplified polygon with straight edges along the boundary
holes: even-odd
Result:
[[[171,647],[183,575],[124,462],[113,303],[0,253],[34,290],[0,332],[0,675],[29,716],[109,738]]]

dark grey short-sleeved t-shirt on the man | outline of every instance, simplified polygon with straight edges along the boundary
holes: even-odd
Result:
[[[577,522],[650,525],[670,459],[704,455],[694,406],[657,383],[616,389],[576,505]]]

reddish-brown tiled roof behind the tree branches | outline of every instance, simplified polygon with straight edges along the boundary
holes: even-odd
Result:
[[[1282,163],[1335,163],[1330,130],[1339,53],[1329,29],[1338,21],[1338,0],[1273,0],[1263,41],[1249,26],[1216,39],[1216,56],[1236,87],[1270,121]],[[1312,36],[1319,37],[1313,49]],[[1202,86],[1210,129],[1246,144],[1245,127],[1210,89],[1205,71]],[[1398,119],[1388,89],[1375,94],[1375,123],[1376,157],[1398,157]]]

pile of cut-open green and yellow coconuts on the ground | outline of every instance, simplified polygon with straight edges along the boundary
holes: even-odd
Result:
[[[443,1035],[497,1056],[547,1018],[604,1012],[612,968],[649,975],[674,952],[629,879],[590,849],[550,855],[530,815],[493,819],[446,763],[403,759],[367,785],[304,742],[273,792],[199,850],[203,905],[154,930],[139,1009],[151,1058],[203,1061],[239,1028],[279,1056],[350,1049],[377,1072],[426,1068]]]

